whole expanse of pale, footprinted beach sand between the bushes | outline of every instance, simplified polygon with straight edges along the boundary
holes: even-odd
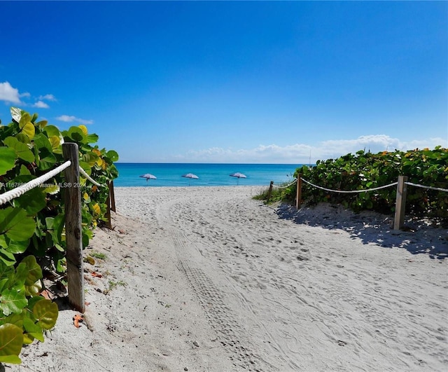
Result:
[[[448,370],[446,229],[258,191],[116,189],[85,322],[62,310],[4,371]]]

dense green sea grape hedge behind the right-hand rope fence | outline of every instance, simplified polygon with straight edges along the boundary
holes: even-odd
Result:
[[[398,176],[423,186],[448,189],[448,149],[370,153],[358,151],[337,159],[318,160],[316,165],[297,168],[295,177],[331,190],[353,191],[393,184]],[[294,200],[296,186],[286,189],[283,198]],[[308,204],[340,203],[356,212],[367,209],[381,213],[395,211],[396,186],[367,193],[332,193],[302,183],[302,199]],[[407,186],[406,211],[428,217],[448,217],[448,193]]]

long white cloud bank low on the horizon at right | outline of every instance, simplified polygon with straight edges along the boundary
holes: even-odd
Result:
[[[318,145],[292,144],[278,146],[276,144],[260,145],[253,149],[222,149],[214,147],[199,151],[188,151],[178,155],[172,161],[189,161],[198,163],[274,163],[274,164],[307,164],[316,160],[339,158],[347,153],[359,150],[378,153],[380,151],[407,151],[413,149],[434,149],[435,146],[448,147],[447,139],[430,138],[411,142],[401,141],[386,135],[367,135],[356,139],[339,139],[321,142]]]

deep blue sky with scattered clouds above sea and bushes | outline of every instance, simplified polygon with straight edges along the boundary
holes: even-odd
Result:
[[[121,162],[448,147],[446,1],[0,1],[10,106]]]

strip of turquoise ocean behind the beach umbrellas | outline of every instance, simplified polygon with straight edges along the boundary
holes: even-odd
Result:
[[[116,163],[118,179],[113,181],[116,187],[131,186],[269,186],[293,181],[293,174],[301,164],[198,164],[198,163]],[[230,177],[240,172],[246,178]],[[139,177],[153,174],[157,179]],[[198,179],[182,177],[193,173]]]

